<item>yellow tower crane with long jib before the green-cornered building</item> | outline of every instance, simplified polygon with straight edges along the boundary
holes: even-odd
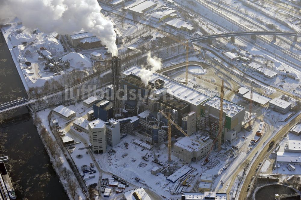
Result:
[[[223,105],[224,105],[224,88],[227,90],[230,90],[234,92],[235,94],[238,93],[238,90],[235,91],[231,88],[228,88],[227,86],[224,85],[224,80],[222,80],[222,84],[215,83],[209,79],[203,78],[199,75],[196,76],[197,78],[200,78],[203,81],[206,81],[208,83],[211,83],[213,85],[219,86],[221,88],[221,94],[220,94],[220,102],[219,102],[219,132],[217,134],[217,146],[218,150],[221,150],[221,145],[222,145],[222,129],[223,129]]]

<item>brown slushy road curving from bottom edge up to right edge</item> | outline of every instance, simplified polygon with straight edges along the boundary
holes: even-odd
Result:
[[[281,140],[284,137],[284,135],[287,134],[288,131],[297,122],[299,122],[300,119],[301,119],[301,114],[299,114],[297,117],[293,118],[290,122],[288,122],[286,125],[284,125],[283,128],[281,128],[281,130],[278,131],[278,133],[275,134],[275,136],[272,138],[272,140],[275,140],[275,143],[277,143],[278,140]],[[263,141],[263,140],[261,140],[261,141]],[[251,182],[252,177],[256,173],[257,165],[259,165],[259,163],[263,161],[265,156],[268,156],[270,151],[273,149],[273,148],[272,149],[268,148],[269,143],[270,143],[269,141],[266,141],[265,146],[260,151],[258,151],[259,155],[256,158],[256,160],[253,162],[253,165],[250,166],[250,171],[248,172],[248,174],[246,176],[246,179],[243,183],[243,186],[241,187],[241,190],[240,190],[240,194],[239,194],[239,198],[238,198],[239,200],[246,199],[246,197],[247,197],[247,187],[248,187],[249,183]],[[259,145],[257,144],[257,146],[259,146]],[[253,152],[255,152],[255,151],[253,151]]]

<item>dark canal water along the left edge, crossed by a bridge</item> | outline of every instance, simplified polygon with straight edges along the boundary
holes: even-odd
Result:
[[[0,104],[26,97],[20,76],[0,33]],[[1,43],[2,41],[2,43]],[[68,199],[50,163],[28,109],[0,114],[0,156],[5,162],[17,199]]]

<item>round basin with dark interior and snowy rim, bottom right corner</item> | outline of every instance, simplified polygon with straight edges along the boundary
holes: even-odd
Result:
[[[291,193],[297,193],[295,189],[281,185],[281,184],[271,184],[271,185],[265,185],[262,186],[257,190],[257,192],[254,195],[254,200],[275,200],[275,194],[291,194]],[[300,196],[298,197],[290,197],[287,198],[290,200],[300,200]]]

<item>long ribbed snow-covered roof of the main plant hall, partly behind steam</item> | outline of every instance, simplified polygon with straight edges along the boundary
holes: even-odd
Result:
[[[133,65],[122,72],[123,77],[130,74],[140,77],[141,67]],[[153,73],[149,80],[151,83],[154,83],[157,79],[164,81],[164,88],[167,89],[166,93],[172,95],[178,100],[182,100],[197,106],[203,101],[209,99],[209,96],[206,94],[196,91],[194,88],[188,87],[187,85],[181,84],[174,79],[159,73]]]

